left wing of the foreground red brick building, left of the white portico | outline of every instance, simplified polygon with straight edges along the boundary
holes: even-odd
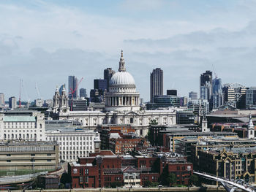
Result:
[[[121,158],[116,155],[97,155],[79,158],[78,163],[69,163],[72,188],[101,188],[111,184],[123,184]]]

